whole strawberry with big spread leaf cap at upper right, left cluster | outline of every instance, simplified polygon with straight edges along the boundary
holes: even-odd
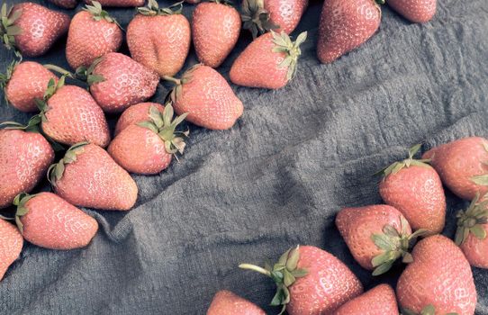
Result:
[[[115,162],[131,173],[158,174],[169,166],[176,152],[183,154],[188,131],[176,131],[186,114],[173,120],[173,107],[167,104],[164,112],[150,106],[146,120],[122,130],[108,147]]]

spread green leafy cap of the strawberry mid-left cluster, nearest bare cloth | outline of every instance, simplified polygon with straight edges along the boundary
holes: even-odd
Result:
[[[164,111],[161,113],[156,106],[149,107],[149,121],[139,122],[137,125],[147,128],[158,134],[159,138],[165,143],[165,149],[168,154],[176,156],[176,152],[183,154],[185,150],[185,138],[190,135],[190,130],[176,131],[176,126],[183,122],[188,112],[173,119],[174,111],[171,103],[167,103]]]

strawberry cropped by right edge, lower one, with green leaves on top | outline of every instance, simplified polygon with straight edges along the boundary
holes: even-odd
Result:
[[[457,213],[456,244],[471,266],[488,268],[488,200],[474,197],[466,211]]]

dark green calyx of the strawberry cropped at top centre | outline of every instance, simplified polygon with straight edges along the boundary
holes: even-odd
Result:
[[[269,12],[265,9],[264,0],[243,0],[240,6],[242,27],[249,30],[252,38],[267,31],[279,29],[279,25],[269,20]]]

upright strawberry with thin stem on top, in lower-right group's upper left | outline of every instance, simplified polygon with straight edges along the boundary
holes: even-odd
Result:
[[[420,145],[409,150],[409,157],[383,171],[380,194],[384,202],[407,218],[411,229],[440,233],[446,222],[446,195],[438,173],[427,162],[414,159]]]

